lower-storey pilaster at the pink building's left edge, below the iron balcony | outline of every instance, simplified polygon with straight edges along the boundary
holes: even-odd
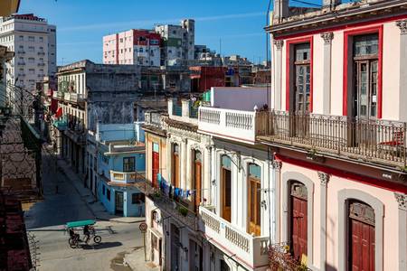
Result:
[[[275,188],[275,193],[274,193],[274,216],[276,218],[276,225],[274,225],[274,229],[276,231],[276,239],[275,242],[279,243],[281,242],[281,220],[280,220],[280,210],[281,210],[281,199],[280,199],[280,193],[281,193],[281,166],[282,163],[279,160],[273,160],[271,162],[271,165],[274,169],[274,188]]]

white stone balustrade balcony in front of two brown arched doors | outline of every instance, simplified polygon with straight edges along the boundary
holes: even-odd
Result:
[[[248,267],[256,268],[269,264],[269,237],[254,237],[237,229],[207,207],[200,206],[199,229],[216,247],[229,250]]]

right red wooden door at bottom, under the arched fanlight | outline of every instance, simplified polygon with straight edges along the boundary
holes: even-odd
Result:
[[[374,271],[374,226],[350,219],[352,271]]]

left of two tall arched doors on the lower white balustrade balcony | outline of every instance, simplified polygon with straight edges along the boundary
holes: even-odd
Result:
[[[232,159],[222,156],[222,218],[229,222],[232,221]]]

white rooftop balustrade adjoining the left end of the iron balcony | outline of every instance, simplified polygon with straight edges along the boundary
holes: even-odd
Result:
[[[206,135],[254,144],[256,112],[199,107],[198,130]]]

